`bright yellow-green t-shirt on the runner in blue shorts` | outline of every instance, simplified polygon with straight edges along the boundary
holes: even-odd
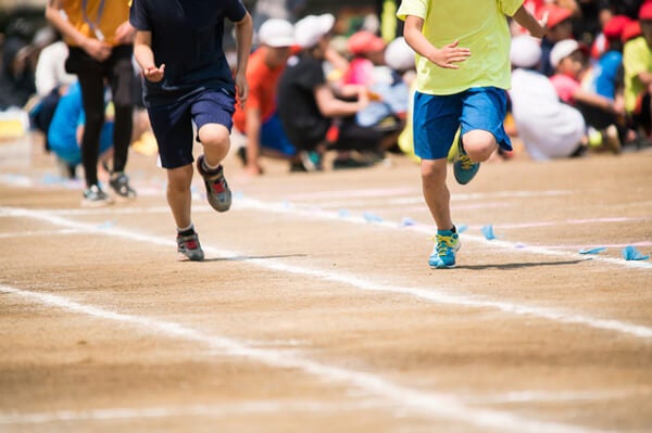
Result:
[[[471,56],[459,69],[437,66],[416,55],[416,88],[422,93],[453,94],[472,87],[511,87],[507,17],[523,0],[403,0],[397,16],[424,20],[424,36],[437,48],[455,40]]]

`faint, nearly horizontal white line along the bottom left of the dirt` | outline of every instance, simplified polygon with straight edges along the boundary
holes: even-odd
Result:
[[[361,411],[389,408],[381,402],[283,402],[250,400],[220,405],[190,405],[175,407],[108,408],[90,410],[58,410],[36,413],[0,413],[0,424],[43,424],[70,421],[112,421],[125,419],[156,419],[175,417],[230,417],[237,415],[308,412],[324,416],[331,412]]]

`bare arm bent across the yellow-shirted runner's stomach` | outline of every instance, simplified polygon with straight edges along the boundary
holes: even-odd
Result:
[[[471,50],[468,48],[457,47],[459,40],[455,40],[448,46],[439,49],[435,47],[423,34],[424,20],[408,15],[405,17],[405,27],[403,29],[403,36],[405,41],[414,51],[421,56],[428,59],[437,66],[459,69],[460,65],[456,63],[464,62],[469,55]]]

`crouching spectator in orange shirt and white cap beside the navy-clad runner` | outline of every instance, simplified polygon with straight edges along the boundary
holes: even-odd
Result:
[[[304,170],[297,149],[283,129],[276,106],[278,79],[294,44],[293,33],[288,21],[267,20],[259,30],[260,47],[249,58],[249,97],[244,107],[236,105],[234,115],[234,126],[247,137],[246,148],[238,152],[249,176],[263,173],[261,154],[290,161],[290,170]]]

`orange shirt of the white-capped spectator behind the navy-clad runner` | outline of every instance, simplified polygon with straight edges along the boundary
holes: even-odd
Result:
[[[249,63],[247,64],[249,97],[247,98],[247,104],[244,104],[246,109],[242,110],[240,104],[237,104],[234,114],[234,125],[240,132],[246,131],[246,110],[259,109],[263,122],[276,112],[276,90],[285,66],[275,69],[269,68],[265,64],[265,51],[266,48],[261,47],[249,56]]]

